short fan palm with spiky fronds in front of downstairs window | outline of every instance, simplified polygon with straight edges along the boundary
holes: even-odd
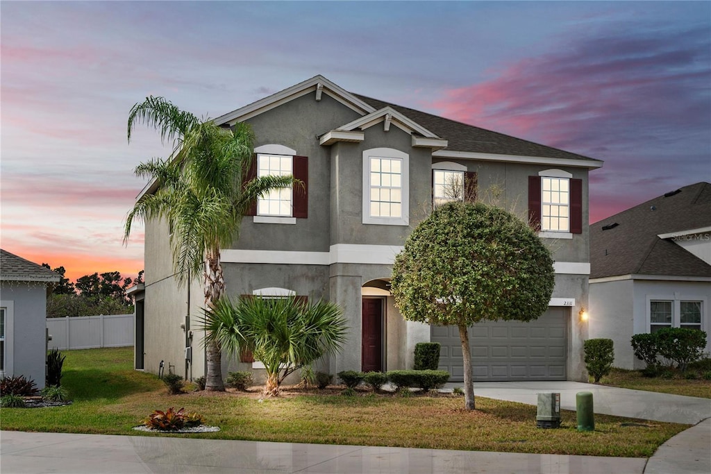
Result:
[[[240,298],[235,306],[223,297],[205,311],[206,343],[218,343],[230,354],[250,350],[264,364],[264,396],[278,397],[289,375],[324,355],[341,349],[346,319],[329,301],[298,298]]]

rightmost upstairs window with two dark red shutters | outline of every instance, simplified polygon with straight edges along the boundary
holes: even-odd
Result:
[[[529,176],[528,215],[542,237],[582,234],[582,180],[557,169]]]

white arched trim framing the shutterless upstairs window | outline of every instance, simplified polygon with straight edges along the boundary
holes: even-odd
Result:
[[[370,158],[402,160],[402,217],[370,215]],[[392,148],[372,148],[363,151],[363,224],[410,225],[410,155]]]

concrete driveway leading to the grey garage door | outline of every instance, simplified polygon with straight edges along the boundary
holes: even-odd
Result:
[[[461,387],[449,383],[444,388]],[[529,405],[538,393],[560,393],[560,407],[575,411],[575,394],[592,392],[594,412],[670,423],[697,424],[711,418],[711,399],[642,392],[582,382],[474,382],[474,399],[486,397]]]

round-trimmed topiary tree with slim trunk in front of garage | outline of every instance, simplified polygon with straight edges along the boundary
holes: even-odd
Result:
[[[464,400],[474,409],[469,325],[531,321],[555,285],[550,251],[515,215],[483,203],[438,206],[395,258],[390,292],[409,321],[459,328]]]

